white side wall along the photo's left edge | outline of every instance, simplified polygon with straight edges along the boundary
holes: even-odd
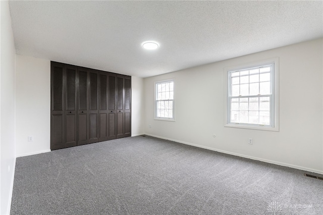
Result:
[[[1,1],[0,213],[9,214],[15,172],[15,42],[8,1]]]

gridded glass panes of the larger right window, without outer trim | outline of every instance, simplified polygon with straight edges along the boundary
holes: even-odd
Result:
[[[271,125],[273,65],[229,72],[229,123]]]

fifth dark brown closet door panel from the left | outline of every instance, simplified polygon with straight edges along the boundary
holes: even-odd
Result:
[[[107,117],[107,73],[99,72],[99,142],[108,137]]]

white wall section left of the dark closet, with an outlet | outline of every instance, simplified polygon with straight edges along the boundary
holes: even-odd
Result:
[[[16,155],[46,151],[50,151],[50,61],[17,55]]]

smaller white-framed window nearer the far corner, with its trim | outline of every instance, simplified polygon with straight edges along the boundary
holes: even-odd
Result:
[[[155,119],[175,121],[174,80],[155,82]]]

